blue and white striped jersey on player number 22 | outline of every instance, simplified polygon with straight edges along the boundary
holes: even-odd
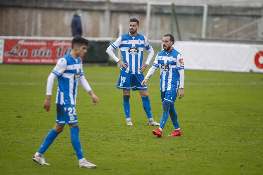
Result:
[[[77,88],[80,76],[84,75],[80,57],[74,59],[70,53],[58,59],[52,73],[58,76],[56,104],[72,104],[77,102]]]

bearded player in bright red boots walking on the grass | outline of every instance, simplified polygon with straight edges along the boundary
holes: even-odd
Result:
[[[177,120],[177,113],[174,108],[174,102],[176,100],[177,93],[179,99],[184,97],[184,60],[181,53],[173,48],[174,42],[174,36],[171,34],[163,36],[162,45],[164,50],[156,55],[153,66],[149,69],[144,80],[141,82],[142,86],[146,85],[147,80],[158,68],[160,68],[160,91],[163,113],[159,129],[156,131],[153,130],[153,134],[158,138],[162,137],[162,130],[169,114],[175,130],[174,133],[168,136],[182,135]]]

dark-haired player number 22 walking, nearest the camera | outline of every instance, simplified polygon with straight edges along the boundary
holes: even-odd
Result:
[[[81,143],[79,140],[79,125],[75,108],[75,104],[77,102],[77,88],[79,83],[87,92],[89,92],[94,104],[98,103],[98,97],[96,97],[94,92],[91,90],[89,83],[84,76],[83,65],[80,59],[80,57],[83,57],[87,52],[86,48],[88,43],[89,41],[85,38],[82,38],[81,36],[76,36],[73,38],[70,53],[58,59],[55,68],[48,77],[44,108],[46,111],[49,111],[50,109],[52,88],[55,78],[58,77],[58,88],[56,95],[57,119],[55,127],[53,127],[47,134],[39,150],[37,150],[37,152],[32,157],[34,162],[37,162],[41,165],[49,165],[45,162],[43,154],[56,139],[58,134],[63,131],[65,124],[68,123],[70,127],[71,143],[76,152],[77,158],[79,159],[79,167],[95,168],[97,166],[86,161],[83,156]]]

